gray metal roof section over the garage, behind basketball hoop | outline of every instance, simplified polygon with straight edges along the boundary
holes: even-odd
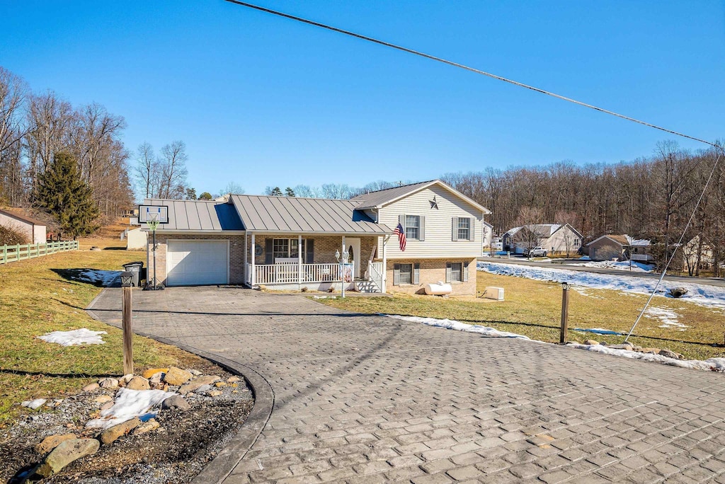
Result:
[[[244,230],[232,204],[204,200],[146,199],[144,205],[169,207],[169,222],[157,230]],[[148,228],[142,224],[141,228]]]

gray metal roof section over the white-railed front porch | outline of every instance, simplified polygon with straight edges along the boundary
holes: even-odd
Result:
[[[241,222],[254,232],[392,233],[355,210],[358,201],[294,196],[232,195]]]

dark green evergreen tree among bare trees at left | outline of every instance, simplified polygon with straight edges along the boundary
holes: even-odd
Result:
[[[52,214],[65,235],[78,238],[99,229],[99,208],[90,185],[80,178],[78,164],[65,152],[57,153],[39,176],[38,206]]]

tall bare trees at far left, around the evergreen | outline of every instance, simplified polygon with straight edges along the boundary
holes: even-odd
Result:
[[[33,92],[0,66],[0,204],[41,207],[41,179],[62,153],[75,161],[98,214],[119,215],[133,205],[125,127],[101,104],[73,107],[54,91]]]

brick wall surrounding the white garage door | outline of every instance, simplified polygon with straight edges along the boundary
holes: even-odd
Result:
[[[172,241],[229,241],[229,283],[244,283],[244,235],[207,235],[199,234],[162,234],[156,233],[156,278],[159,283],[166,285],[166,251],[167,240]],[[152,243],[152,235],[149,234],[149,245]],[[151,278],[154,271],[154,253],[149,251],[149,270],[147,277]]]

